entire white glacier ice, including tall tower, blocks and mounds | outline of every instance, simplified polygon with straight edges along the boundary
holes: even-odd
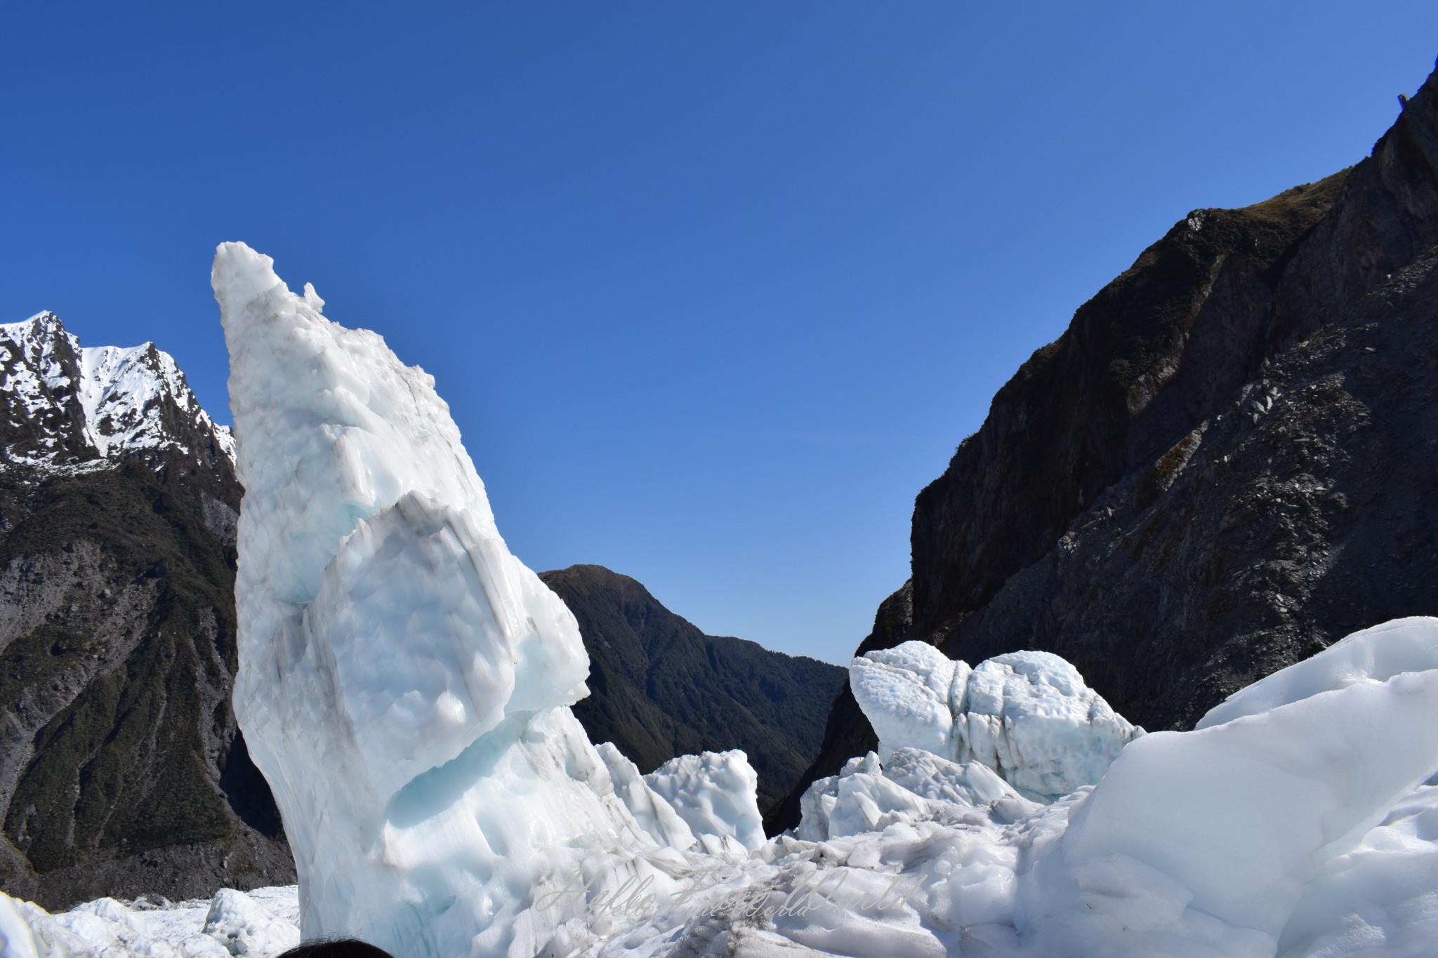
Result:
[[[1438,619],[1355,633],[1140,734],[1063,659],[856,659],[879,730],[758,833],[741,753],[650,776],[568,705],[572,618],[509,554],[447,409],[227,244],[247,498],[237,707],[293,890],[63,915],[0,958],[1339,958],[1438,954]],[[288,903],[286,903],[288,902]]]

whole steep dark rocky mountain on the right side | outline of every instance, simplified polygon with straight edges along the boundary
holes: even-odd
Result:
[[[913,577],[860,651],[1047,649],[1188,728],[1353,629],[1438,613],[1435,244],[1438,75],[1356,167],[1195,210],[1084,303],[919,494]],[[846,689],[804,780],[873,741]]]

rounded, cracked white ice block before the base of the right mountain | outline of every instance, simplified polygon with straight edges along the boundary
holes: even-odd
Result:
[[[848,679],[880,757],[907,747],[978,761],[1040,801],[1097,783],[1143,734],[1050,652],[1009,652],[969,668],[905,642],[856,658]]]

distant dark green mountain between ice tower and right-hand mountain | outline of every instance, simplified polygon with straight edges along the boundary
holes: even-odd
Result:
[[[634,579],[603,566],[539,573],[580,620],[590,697],[574,714],[649,773],[674,755],[742,748],[759,806],[787,794],[818,753],[844,669],[705,635]]]

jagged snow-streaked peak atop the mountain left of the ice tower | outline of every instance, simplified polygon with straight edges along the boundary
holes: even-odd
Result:
[[[162,467],[174,450],[233,461],[234,441],[200,406],[170,353],[82,348],[43,312],[0,325],[0,465],[88,471],[125,458]]]

